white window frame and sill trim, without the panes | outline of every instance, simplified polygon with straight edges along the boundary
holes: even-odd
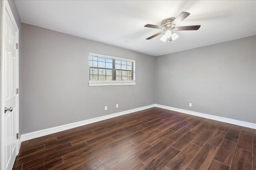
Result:
[[[135,82],[135,60],[131,60],[131,59],[124,59],[124,58],[119,58],[119,57],[112,57],[112,56],[108,56],[108,55],[101,55],[101,54],[96,54],[96,53],[90,53],[90,55],[94,55],[97,57],[104,57],[104,58],[109,58],[109,59],[117,59],[117,60],[123,60],[123,61],[131,61],[134,63],[134,68],[133,68],[133,79],[134,80],[104,80],[104,81],[93,81],[93,80],[89,80],[88,84],[89,86],[117,86],[117,85],[136,85]],[[89,60],[90,60],[90,55],[89,55]],[[89,62],[90,63],[90,62]],[[90,76],[90,64],[89,64],[89,76]]]

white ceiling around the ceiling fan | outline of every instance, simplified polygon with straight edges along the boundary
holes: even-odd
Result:
[[[68,1],[16,0],[21,21],[123,47],[149,55],[164,55],[256,35],[256,1]],[[180,12],[190,16],[178,26],[201,25],[198,31],[176,31],[170,43],[160,36],[162,20]]]

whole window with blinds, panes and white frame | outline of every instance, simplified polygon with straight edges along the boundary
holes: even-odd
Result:
[[[89,86],[135,84],[134,60],[90,53]]]

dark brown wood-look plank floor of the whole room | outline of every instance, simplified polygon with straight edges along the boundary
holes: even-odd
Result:
[[[256,130],[157,107],[22,142],[15,170],[255,170]]]

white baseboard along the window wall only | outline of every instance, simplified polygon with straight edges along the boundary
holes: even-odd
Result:
[[[30,140],[30,139],[37,138],[37,137],[42,137],[42,136],[45,136],[45,135],[50,135],[52,133],[64,131],[64,130],[67,130],[67,129],[72,129],[72,128],[75,128],[75,127],[78,127],[78,126],[87,125],[87,124],[94,123],[94,122],[97,122],[97,121],[110,119],[112,117],[117,117],[117,116],[120,116],[120,115],[125,115],[125,114],[129,114],[129,113],[132,113],[132,112],[144,110],[144,109],[149,109],[151,107],[155,107],[155,104],[144,106],[144,107],[139,107],[139,108],[136,108],[136,109],[121,111],[121,112],[110,114],[110,115],[104,115],[104,116],[101,116],[101,117],[96,117],[96,118],[92,118],[92,119],[88,119],[88,120],[84,120],[84,121],[78,121],[78,122],[75,122],[75,123],[70,123],[70,124],[61,125],[61,126],[57,126],[57,127],[52,127],[52,128],[49,128],[49,129],[43,129],[43,130],[40,130],[40,131],[26,133],[26,134],[23,134],[23,135],[20,136],[20,143],[23,142],[23,141],[27,141],[27,140]]]

